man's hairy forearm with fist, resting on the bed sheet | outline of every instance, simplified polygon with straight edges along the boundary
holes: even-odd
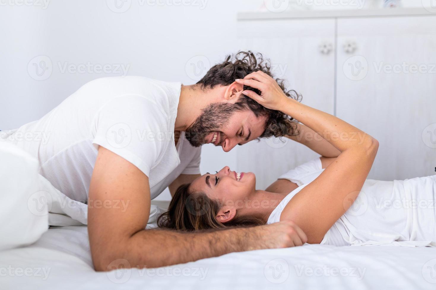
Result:
[[[307,236],[290,220],[264,226],[230,228],[203,232],[173,230],[141,230],[131,237],[99,240],[92,251],[97,271],[120,267],[153,268],[187,263],[231,252],[301,246]],[[107,237],[106,237],[107,238]],[[113,262],[113,263],[112,263]],[[112,267],[113,266],[113,267]]]

